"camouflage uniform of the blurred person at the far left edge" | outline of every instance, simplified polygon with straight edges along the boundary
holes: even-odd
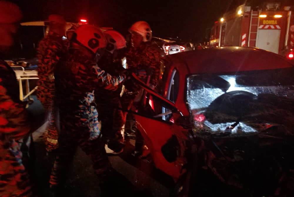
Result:
[[[32,196],[18,140],[29,133],[14,71],[0,60],[0,196]]]

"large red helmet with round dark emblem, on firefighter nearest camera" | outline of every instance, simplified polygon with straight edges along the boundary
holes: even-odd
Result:
[[[73,41],[86,47],[94,54],[97,53],[98,49],[106,48],[106,38],[98,27],[81,25],[76,29],[75,34]]]

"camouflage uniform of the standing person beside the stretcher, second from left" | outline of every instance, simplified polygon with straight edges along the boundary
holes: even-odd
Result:
[[[58,135],[55,126],[54,108],[54,69],[56,64],[67,51],[68,42],[61,36],[49,31],[48,35],[41,40],[38,47],[38,89],[37,98],[45,108],[46,117],[49,120],[48,133],[46,138],[46,149],[51,151],[57,148]]]

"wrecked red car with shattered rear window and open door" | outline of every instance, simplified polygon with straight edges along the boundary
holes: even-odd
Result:
[[[247,47],[163,63],[159,94],[139,82],[147,99],[133,113],[155,166],[176,180],[176,195],[293,193],[293,64]]]

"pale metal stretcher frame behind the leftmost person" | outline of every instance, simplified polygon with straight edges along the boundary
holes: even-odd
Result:
[[[28,104],[34,102],[34,99],[31,98],[31,95],[38,89],[38,86],[35,86],[32,90],[30,89],[30,80],[37,80],[38,72],[36,70],[26,71],[22,66],[11,66],[14,69],[16,74],[16,79],[19,82],[19,99],[24,101],[28,99]],[[21,70],[16,70],[16,68],[21,68]],[[23,84],[22,82],[25,81],[25,95],[23,91]]]

